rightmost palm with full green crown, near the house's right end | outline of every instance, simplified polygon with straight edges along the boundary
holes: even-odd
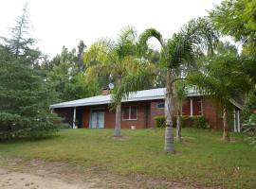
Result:
[[[229,43],[219,43],[215,55],[203,57],[202,62],[200,72],[192,73],[189,82],[216,101],[223,115],[223,140],[229,141],[230,99],[247,93],[249,78],[240,71],[241,61],[237,50]]]

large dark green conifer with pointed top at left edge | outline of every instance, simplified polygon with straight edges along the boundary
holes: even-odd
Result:
[[[33,66],[41,53],[31,48],[27,24],[26,6],[11,38],[0,44],[0,139],[43,137],[57,130],[57,118],[48,110],[54,94]]]

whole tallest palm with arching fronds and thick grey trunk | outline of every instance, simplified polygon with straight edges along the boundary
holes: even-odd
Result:
[[[166,152],[174,153],[173,117],[174,117],[174,81],[182,78],[182,70],[190,68],[198,53],[213,51],[218,35],[206,19],[196,19],[183,26],[179,33],[167,41],[155,28],[146,29],[139,37],[140,49],[148,49],[147,42],[154,37],[161,45],[161,60],[166,70],[165,94],[165,146]]]

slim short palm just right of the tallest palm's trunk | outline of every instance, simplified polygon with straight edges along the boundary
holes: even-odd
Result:
[[[187,97],[187,91],[184,82],[176,82],[174,85],[174,94],[176,103],[176,141],[181,142],[181,117],[183,100]]]

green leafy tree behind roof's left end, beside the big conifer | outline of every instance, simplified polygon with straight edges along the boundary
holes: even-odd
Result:
[[[63,47],[63,52],[49,63],[52,68],[47,74],[47,82],[53,91],[56,91],[59,100],[74,100],[99,93],[97,80],[90,82],[84,76],[76,62],[75,50],[68,51]]]

